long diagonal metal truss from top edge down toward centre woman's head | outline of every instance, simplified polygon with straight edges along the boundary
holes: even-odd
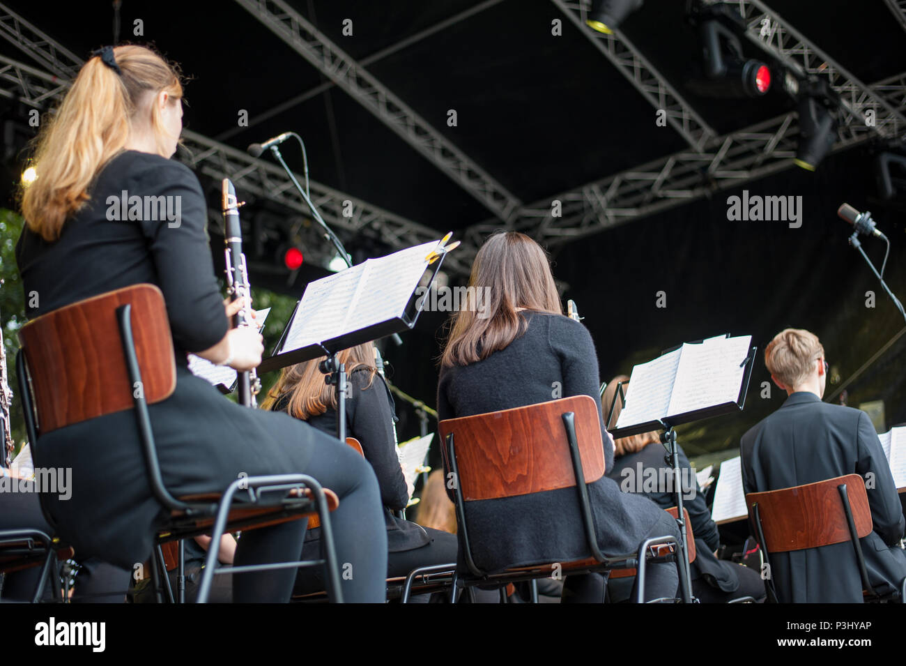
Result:
[[[284,0],[236,2],[496,217],[508,222],[514,216],[521,206],[516,197]]]

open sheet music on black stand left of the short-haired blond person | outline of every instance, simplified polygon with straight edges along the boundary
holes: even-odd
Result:
[[[683,343],[636,365],[613,436],[629,437],[660,430],[664,422],[676,426],[741,410],[751,374],[751,342],[750,335],[720,335]]]

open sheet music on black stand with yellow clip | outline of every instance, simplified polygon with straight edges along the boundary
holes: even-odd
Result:
[[[410,315],[410,303],[417,302],[414,293],[433,262],[431,256],[440,251],[435,273],[443,261],[442,242],[368,259],[309,283],[274,355],[262,362],[259,372],[323,356],[322,345],[339,352],[411,328],[419,308]]]

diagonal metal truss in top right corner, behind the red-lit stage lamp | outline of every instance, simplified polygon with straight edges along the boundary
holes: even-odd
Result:
[[[711,5],[736,8],[746,25],[747,38],[773,55],[800,81],[826,82],[840,99],[841,122],[853,131],[896,138],[906,131],[906,116],[836,63],[827,53],[786,22],[761,0],[708,0]],[[866,111],[874,112],[869,122]]]

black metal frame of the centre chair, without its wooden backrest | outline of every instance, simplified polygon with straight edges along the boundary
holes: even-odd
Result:
[[[579,453],[579,440],[575,432],[575,414],[572,411],[567,411],[562,414],[564,421],[564,429],[566,430],[566,441],[570,449],[570,457],[573,461],[573,473],[575,475],[575,488],[579,498],[579,511],[582,518],[584,533],[585,533],[585,542],[588,545],[589,551],[591,552],[593,558],[598,563],[597,565],[591,565],[587,567],[577,567],[575,569],[570,569],[569,574],[588,574],[593,572],[603,573],[609,572],[612,569],[624,569],[624,568],[635,568],[636,573],[636,602],[642,603],[645,598],[645,574],[646,574],[646,565],[651,564],[660,564],[663,562],[675,562],[677,563],[677,572],[679,574],[679,589],[683,591],[682,601],[684,603],[690,603],[691,599],[685,597],[685,590],[688,589],[688,585],[685,580],[685,567],[679,562],[679,553],[682,552],[682,549],[679,544],[679,539],[676,536],[665,535],[657,536],[646,539],[641,542],[639,548],[635,553],[626,554],[626,555],[616,555],[608,556],[604,555],[601,552],[601,549],[598,547],[598,541],[594,533],[594,525],[592,521],[592,507],[591,502],[588,497],[588,488],[585,485],[585,474],[582,467],[582,457]],[[532,581],[537,578],[546,578],[549,577],[548,573],[542,574],[537,569],[529,571],[507,571],[502,574],[487,574],[487,572],[482,571],[475,563],[475,560],[472,558],[472,549],[469,543],[468,537],[468,526],[466,523],[466,511],[465,511],[465,500],[462,497],[461,484],[459,483],[459,469],[457,465],[456,458],[456,444],[453,437],[454,433],[450,432],[447,436],[447,453],[450,471],[453,473],[456,479],[456,483],[453,487],[453,494],[455,497],[456,505],[456,514],[458,522],[458,534],[462,539],[463,544],[463,553],[466,558],[466,565],[468,571],[471,573],[471,577],[458,575],[457,584],[462,587],[467,587],[471,585],[487,585],[487,584],[501,584],[506,585],[508,583],[516,583],[520,581]],[[658,555],[658,551],[655,550],[653,553],[649,553],[648,550],[654,545],[672,545],[672,553],[669,555]],[[539,569],[543,565],[539,565]],[[503,594],[503,593],[501,593]],[[536,594],[533,594],[536,600]],[[503,599],[503,597],[502,597]],[[654,602],[661,601],[660,599],[652,600]],[[676,601],[675,599],[670,599],[670,601]]]

